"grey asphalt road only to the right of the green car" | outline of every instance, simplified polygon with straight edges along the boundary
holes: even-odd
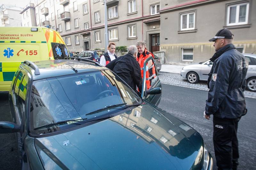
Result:
[[[192,126],[204,138],[214,158],[214,170],[217,170],[213,149],[212,117],[203,117],[207,91],[162,84],[162,99],[159,107],[179,117]],[[248,112],[241,118],[238,125],[239,170],[255,169],[256,163],[256,99],[246,98]]]

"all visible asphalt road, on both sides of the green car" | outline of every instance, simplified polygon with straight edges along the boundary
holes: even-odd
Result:
[[[207,91],[162,84],[162,99],[159,107],[191,125],[204,138],[208,150],[214,157],[212,143],[213,125],[203,118]],[[8,93],[0,92],[0,121],[11,121]],[[239,169],[254,169],[256,166],[256,99],[246,98],[248,113],[242,117],[238,127],[240,165]],[[0,169],[20,169],[18,150],[14,134],[0,134]],[[214,160],[214,169],[216,161]]]

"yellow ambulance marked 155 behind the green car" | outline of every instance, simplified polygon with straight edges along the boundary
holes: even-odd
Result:
[[[9,91],[13,76],[25,61],[69,57],[59,32],[47,27],[0,27],[0,91]]]

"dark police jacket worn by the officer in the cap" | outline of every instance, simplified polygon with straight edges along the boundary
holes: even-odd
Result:
[[[220,48],[210,59],[209,92],[205,114],[220,118],[238,118],[245,114],[244,90],[248,63],[233,44]]]

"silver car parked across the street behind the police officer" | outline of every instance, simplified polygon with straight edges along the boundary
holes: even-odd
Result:
[[[249,67],[246,74],[247,89],[256,92],[256,54],[243,54],[249,62]],[[185,66],[181,70],[181,76],[186,78],[190,83],[197,83],[199,80],[207,81],[212,64],[212,61],[207,60],[199,64]]]

